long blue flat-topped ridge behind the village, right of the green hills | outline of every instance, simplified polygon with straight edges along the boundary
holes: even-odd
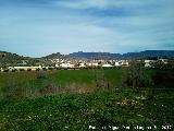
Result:
[[[145,59],[174,58],[174,50],[146,50],[140,52],[110,53],[110,52],[73,52],[67,56],[75,59]]]

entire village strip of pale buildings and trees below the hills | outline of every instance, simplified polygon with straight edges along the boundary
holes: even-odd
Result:
[[[91,68],[122,68],[129,67],[132,62],[139,62],[144,68],[154,68],[157,63],[166,66],[167,59],[158,60],[87,60],[87,59],[47,59],[36,63],[35,66],[28,66],[27,60],[23,60],[20,66],[9,66],[0,68],[1,72],[14,72],[14,71],[38,71],[38,70],[79,70]],[[49,64],[47,64],[49,62]]]

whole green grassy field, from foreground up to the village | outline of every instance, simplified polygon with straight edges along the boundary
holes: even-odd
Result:
[[[159,73],[161,84],[138,88],[122,85],[126,71],[0,73],[0,130],[172,130],[173,71],[146,70],[150,76]]]

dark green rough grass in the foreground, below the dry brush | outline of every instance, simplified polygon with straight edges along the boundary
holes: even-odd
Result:
[[[151,91],[148,91],[149,93]],[[1,130],[88,131],[89,126],[173,126],[174,92],[156,92],[156,98],[133,88],[87,94],[46,96],[0,103]],[[138,98],[142,95],[146,97]],[[167,95],[166,95],[167,94]]]

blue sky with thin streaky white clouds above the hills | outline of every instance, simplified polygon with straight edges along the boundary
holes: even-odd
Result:
[[[174,0],[0,0],[0,50],[174,50]]]

